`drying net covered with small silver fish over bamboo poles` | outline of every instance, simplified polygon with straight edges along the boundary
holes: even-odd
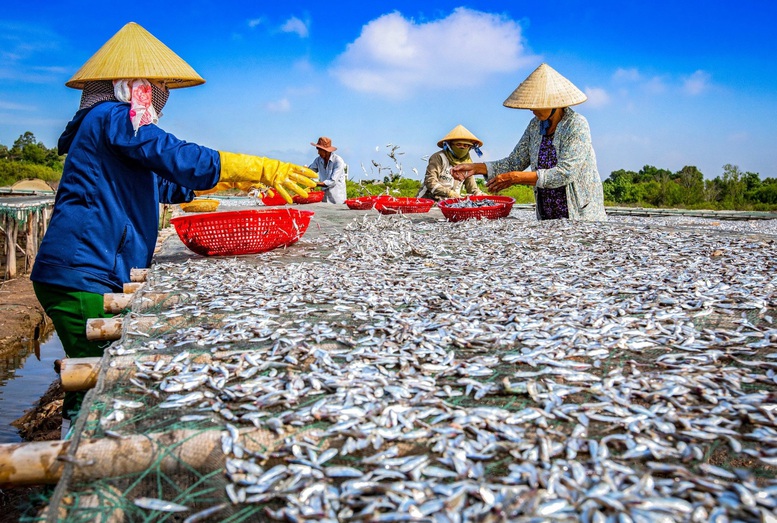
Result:
[[[44,516],[760,521],[776,250],[514,211],[161,253]]]

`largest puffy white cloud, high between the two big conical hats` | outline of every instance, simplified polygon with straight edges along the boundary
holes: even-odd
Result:
[[[516,22],[459,7],[430,22],[398,12],[369,22],[331,72],[357,91],[402,97],[417,89],[474,85],[532,59]]]

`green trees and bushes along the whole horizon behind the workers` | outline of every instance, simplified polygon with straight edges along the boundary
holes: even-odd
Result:
[[[348,180],[349,198],[370,194],[415,196],[420,180],[405,177],[400,157],[404,154],[397,145],[387,145],[389,166],[372,160],[370,171],[362,165],[364,180]],[[62,176],[65,157],[39,142],[29,131],[21,135],[10,148],[0,144],[0,187],[19,180],[40,178],[58,181]],[[372,178],[372,179],[370,179]],[[483,181],[478,179],[483,187]],[[761,180],[758,173],[742,172],[736,165],[726,164],[723,173],[713,179],[694,166],[686,166],[672,173],[646,165],[639,172],[624,169],[613,171],[604,181],[606,205],[777,211],[777,178]],[[516,203],[534,203],[531,187],[516,185],[500,194],[512,196]]]

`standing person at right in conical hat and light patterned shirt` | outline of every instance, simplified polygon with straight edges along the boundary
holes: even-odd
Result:
[[[534,186],[539,220],[606,220],[588,121],[570,108],[586,99],[572,82],[541,64],[504,102],[506,107],[534,113],[510,156],[458,165],[453,176],[466,180],[483,174],[494,193],[515,184]],[[529,166],[533,170],[524,171]]]

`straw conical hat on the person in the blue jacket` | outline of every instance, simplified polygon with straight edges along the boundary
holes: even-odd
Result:
[[[86,82],[120,78],[164,80],[170,89],[205,83],[181,57],[135,22],[105,42],[65,85],[83,89]]]

